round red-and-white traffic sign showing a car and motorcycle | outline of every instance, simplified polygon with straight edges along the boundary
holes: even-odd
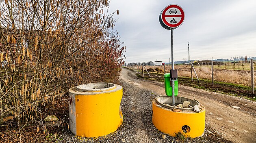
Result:
[[[184,11],[179,5],[170,4],[160,13],[159,22],[165,29],[175,29],[183,23],[184,16]]]

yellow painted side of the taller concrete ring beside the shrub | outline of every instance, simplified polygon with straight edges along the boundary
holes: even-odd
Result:
[[[115,132],[123,122],[123,89],[95,95],[76,95],[76,135],[99,137]]]

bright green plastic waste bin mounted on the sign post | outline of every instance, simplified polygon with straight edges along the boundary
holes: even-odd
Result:
[[[171,74],[170,73],[166,73],[164,75],[165,78],[165,94],[167,96],[172,96],[172,86],[171,85],[171,81],[170,81],[170,77]],[[178,80],[174,81],[174,96],[178,95]]]

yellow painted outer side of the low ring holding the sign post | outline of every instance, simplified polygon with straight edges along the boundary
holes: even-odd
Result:
[[[182,126],[187,125],[190,127],[190,131],[185,136],[195,138],[204,135],[205,108],[199,113],[193,111],[173,112],[171,109],[156,107],[156,105],[158,104],[153,100],[152,122],[161,132],[175,137],[175,133],[182,131]]]

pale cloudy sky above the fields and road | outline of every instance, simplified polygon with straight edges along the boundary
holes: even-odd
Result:
[[[184,22],[173,30],[174,61],[256,57],[256,0],[111,0],[115,23],[126,46],[126,63],[171,58],[171,31],[159,23],[169,4],[178,4]]]

